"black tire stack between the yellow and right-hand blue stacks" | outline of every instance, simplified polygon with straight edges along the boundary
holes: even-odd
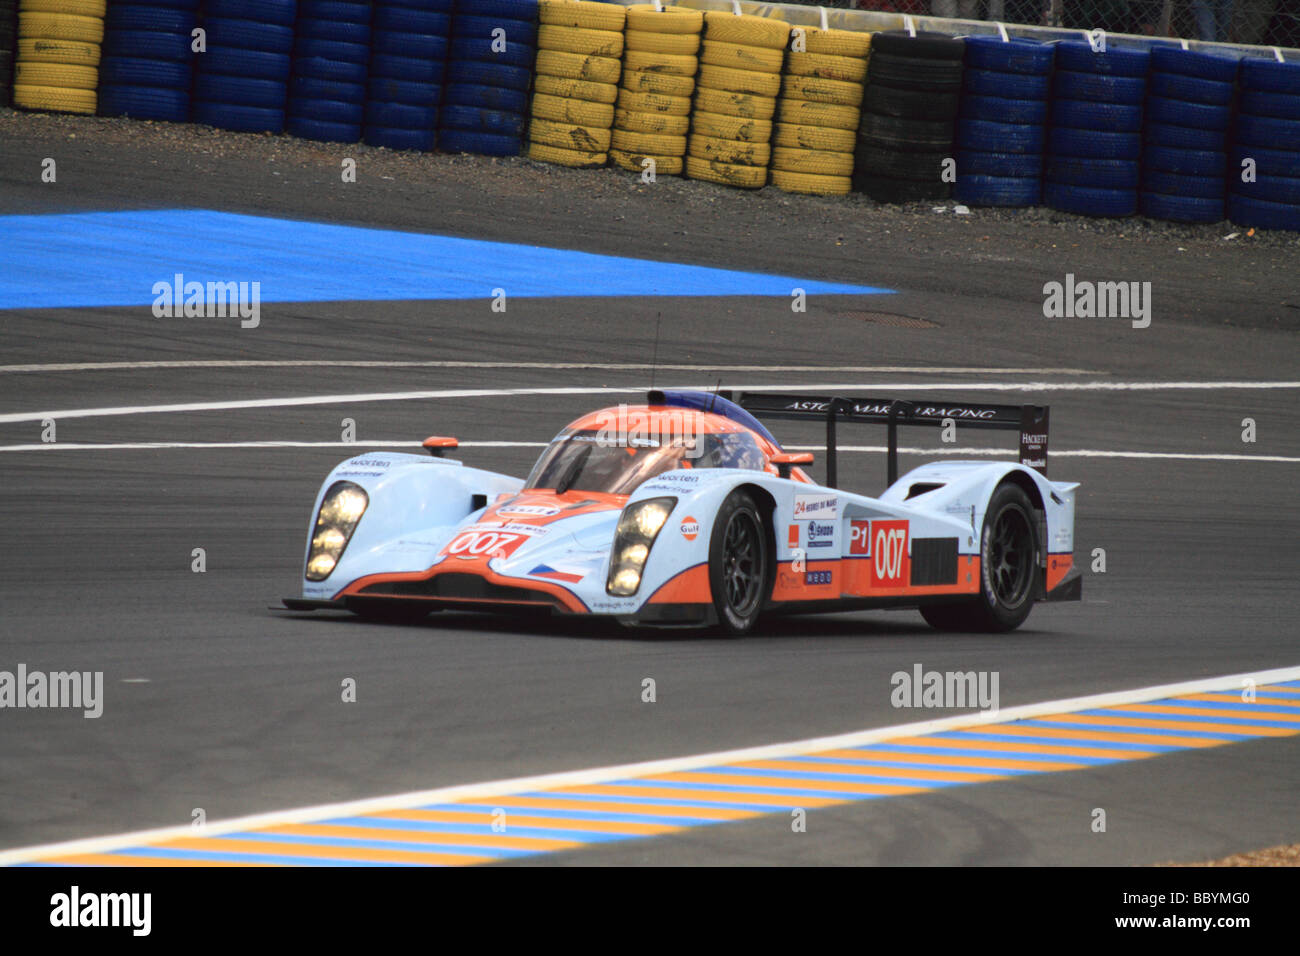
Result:
[[[966,43],[890,30],[871,38],[853,187],[881,203],[946,199]]]

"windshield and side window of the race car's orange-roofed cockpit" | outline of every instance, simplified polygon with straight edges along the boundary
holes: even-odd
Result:
[[[607,434],[607,433],[606,433]],[[660,445],[654,440],[616,445],[598,431],[560,432],[528,476],[525,488],[632,494],[642,481],[673,468],[757,468],[767,457],[745,432],[702,434],[696,451],[692,441]]]

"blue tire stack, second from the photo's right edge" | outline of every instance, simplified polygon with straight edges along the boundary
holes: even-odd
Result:
[[[1150,51],[1141,213],[1176,222],[1223,219],[1227,126],[1236,59],[1178,47]]]

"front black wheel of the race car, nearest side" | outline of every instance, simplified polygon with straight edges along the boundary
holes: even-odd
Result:
[[[718,510],[708,541],[708,589],[718,627],[729,635],[753,630],[771,591],[767,529],[754,499],[732,492]]]

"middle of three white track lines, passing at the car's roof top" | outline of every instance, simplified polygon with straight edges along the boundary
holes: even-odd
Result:
[[[664,386],[670,388],[670,386]],[[712,385],[672,386],[686,390],[711,392]],[[1219,381],[1219,382],[850,382],[850,384],[796,384],[796,385],[732,385],[740,392],[797,392],[800,394],[867,394],[890,392],[1164,392],[1184,389],[1300,389],[1300,381]],[[602,395],[641,394],[641,388],[529,388],[529,389],[432,389],[421,392],[361,392],[334,395],[295,395],[291,398],[252,398],[230,402],[181,402],[174,405],[129,405],[99,408],[60,408],[25,411],[0,415],[0,424],[13,421],[40,421],[43,419],[88,419],[118,415],[159,415],[168,412],[231,411],[237,408],[287,408],[306,405],[358,405],[363,402],[410,402],[433,398],[499,398],[523,395]]]

